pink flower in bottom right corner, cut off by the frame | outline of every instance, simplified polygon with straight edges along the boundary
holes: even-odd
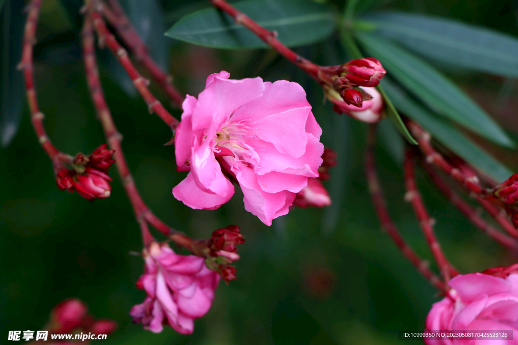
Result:
[[[506,278],[482,273],[458,275],[448,284],[449,296],[434,303],[426,317],[426,331],[518,331],[518,274]],[[426,339],[427,345],[518,344],[515,340]]]

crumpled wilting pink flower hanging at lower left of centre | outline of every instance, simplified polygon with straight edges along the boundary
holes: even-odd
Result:
[[[181,334],[193,333],[194,319],[212,305],[220,276],[204,258],[176,254],[167,244],[153,242],[143,257],[146,266],[137,287],[148,296],[131,309],[133,321],[154,333],[162,332],[164,324]]]

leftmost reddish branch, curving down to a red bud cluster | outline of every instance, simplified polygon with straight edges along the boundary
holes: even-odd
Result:
[[[25,22],[25,33],[23,35],[22,59],[18,69],[23,70],[25,79],[25,89],[29,111],[31,112],[31,123],[41,147],[45,150],[54,164],[54,171],[57,172],[64,168],[62,162],[70,163],[72,157],[62,153],[49,139],[43,119],[45,115],[39,110],[36,89],[34,87],[34,66],[33,66],[33,47],[36,43],[36,26],[38,24],[39,9],[42,0],[33,0],[28,5],[27,20]]]

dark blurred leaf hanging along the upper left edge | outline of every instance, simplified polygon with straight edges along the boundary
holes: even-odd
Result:
[[[16,66],[22,53],[24,2],[9,0],[5,3],[2,22],[2,83],[0,84],[0,144],[9,145],[16,136],[22,117],[23,74]]]

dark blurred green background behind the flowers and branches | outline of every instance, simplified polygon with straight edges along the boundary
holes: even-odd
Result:
[[[81,18],[66,12],[73,3],[44,1],[35,78],[53,143],[69,154],[89,154],[104,138],[77,46]],[[207,3],[162,1],[165,27]],[[338,7],[343,5],[336,2]],[[438,14],[518,36],[516,1],[401,0],[380,2],[378,8]],[[336,39],[296,51],[319,64],[339,64],[348,58]],[[116,171],[110,170],[114,182],[108,199],[91,203],[59,190],[24,99],[20,130],[8,147],[0,149],[0,343],[7,341],[8,331],[42,329],[50,309],[67,297],[85,301],[95,317],[119,323],[117,331],[103,341],[107,345],[395,344],[400,343],[398,329],[423,329],[438,297],[379,228],[363,173],[366,126],[337,115],[329,103],[322,104],[321,88],[275,53],[214,50],[167,38],[164,42],[166,46],[158,48],[163,49],[161,56],[168,56],[163,64],[174,74],[176,85],[191,95],[202,91],[208,74],[220,70],[236,79],[261,76],[303,85],[323,128],[322,142],[338,153],[339,164],[326,182],[333,205],[294,208],[271,227],[244,211],[239,191],[217,211],[184,206],[171,194],[185,173],[176,172],[174,146],[163,145],[170,139],[170,130],[148,113],[131,82],[117,74],[120,70],[108,53],[99,51],[106,98],[124,136],[126,158],[143,199],[157,216],[192,237],[209,237],[215,229],[237,224],[247,241],[239,247],[238,279],[229,286],[220,283],[211,310],[195,322],[193,335],[179,335],[170,328],[155,335],[134,325],[128,311],[141,303],[145,293],[134,284],[142,272],[142,259],[130,252],[141,250],[141,240]],[[150,45],[154,52],[157,46]],[[496,94],[503,83],[481,74],[463,74],[455,80],[472,93],[487,94]],[[167,104],[159,90],[152,91]],[[516,101],[512,91],[502,108]],[[170,109],[179,118],[181,112]],[[498,116],[500,123],[509,121],[505,114]],[[516,128],[516,119],[512,121],[506,126],[509,130]],[[377,154],[397,226],[416,251],[431,259],[411,207],[403,200],[400,167],[383,147],[378,147]],[[514,152],[500,157],[516,168]],[[441,245],[461,272],[515,261],[474,229],[422,173],[418,183],[437,220]]]

